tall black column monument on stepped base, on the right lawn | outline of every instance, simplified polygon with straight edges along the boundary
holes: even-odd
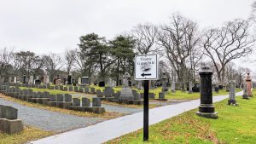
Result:
[[[201,78],[201,104],[196,114],[204,118],[218,118],[218,113],[212,104],[212,70],[203,67],[199,72]]]

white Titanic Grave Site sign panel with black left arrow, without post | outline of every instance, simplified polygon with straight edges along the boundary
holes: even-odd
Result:
[[[156,80],[158,69],[157,55],[135,56],[135,80]]]

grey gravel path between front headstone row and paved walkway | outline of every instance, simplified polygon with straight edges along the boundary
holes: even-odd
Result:
[[[0,98],[0,105],[15,107],[18,109],[18,118],[26,125],[32,125],[42,130],[54,130],[57,132],[78,129],[104,121],[103,118],[86,118],[73,116],[61,112],[51,112],[35,107],[25,107],[12,101]]]

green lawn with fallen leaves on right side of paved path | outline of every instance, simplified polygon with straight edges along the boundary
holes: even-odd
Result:
[[[256,90],[253,90],[256,95]],[[256,98],[236,97],[239,107],[227,105],[227,100],[215,104],[218,119],[201,118],[195,110],[166,119],[149,127],[146,143],[256,143]],[[107,143],[143,143],[143,130],[137,130]]]

